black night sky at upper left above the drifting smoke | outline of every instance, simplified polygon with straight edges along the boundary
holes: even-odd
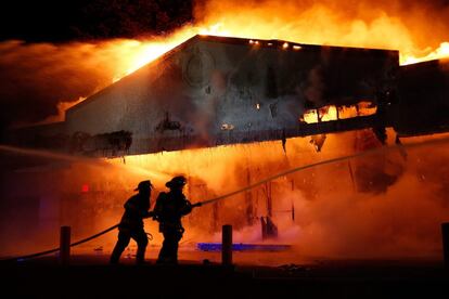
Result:
[[[0,40],[136,37],[192,21],[192,0],[14,0],[0,4]]]

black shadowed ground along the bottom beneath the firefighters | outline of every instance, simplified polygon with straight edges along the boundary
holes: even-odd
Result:
[[[428,260],[322,260],[281,266],[107,264],[107,256],[2,263],[3,294],[30,298],[449,298],[449,271]]]

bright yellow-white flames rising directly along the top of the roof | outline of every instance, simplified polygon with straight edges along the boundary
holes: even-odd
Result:
[[[356,15],[338,11],[348,5],[305,5],[295,1],[264,1],[253,5],[229,0],[209,1],[205,8],[197,9],[196,14],[202,15],[201,23],[187,25],[166,38],[150,41],[131,40],[125,43],[123,50],[119,50],[123,51],[123,60],[118,61],[121,70],[116,74],[114,80],[157,58],[194,35],[393,49],[400,51],[401,65],[449,56],[448,41],[439,40],[439,47],[435,46],[438,41],[434,41],[434,46],[416,42],[420,39],[419,35],[428,30],[428,17],[410,12],[408,16],[406,12],[393,10],[387,4],[385,8],[370,8],[365,3],[364,6],[358,8]],[[410,18],[414,18],[413,23]]]

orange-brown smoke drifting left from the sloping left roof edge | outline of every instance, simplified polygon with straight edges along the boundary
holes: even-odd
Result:
[[[175,44],[164,38],[151,42],[127,39],[61,44],[0,42],[0,125],[27,125],[52,116],[53,120],[63,120],[64,108]]]

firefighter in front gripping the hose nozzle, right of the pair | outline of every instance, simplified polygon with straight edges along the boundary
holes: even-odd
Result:
[[[157,263],[178,263],[178,244],[184,232],[181,218],[190,213],[192,208],[201,206],[201,203],[192,205],[182,194],[185,183],[184,177],[175,177],[165,184],[170,191],[162,192],[157,197],[154,219],[159,222],[159,232],[164,235]]]

